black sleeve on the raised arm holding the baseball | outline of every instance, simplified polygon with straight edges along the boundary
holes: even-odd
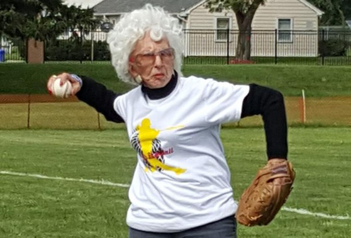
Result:
[[[94,107],[98,112],[102,113],[106,120],[114,121],[115,123],[123,123],[124,120],[113,108],[114,100],[121,94],[116,94],[111,90],[90,79],[79,75],[83,84],[80,91],[76,94],[79,100]]]

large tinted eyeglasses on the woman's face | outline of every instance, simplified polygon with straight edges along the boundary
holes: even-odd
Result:
[[[164,63],[170,62],[174,59],[174,49],[167,48],[156,53],[150,52],[145,54],[137,54],[135,58],[130,58],[129,62],[135,62],[139,66],[151,66],[155,63],[157,55]]]

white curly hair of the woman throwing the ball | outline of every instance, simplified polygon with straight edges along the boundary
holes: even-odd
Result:
[[[124,15],[107,35],[110,45],[112,65],[118,77],[130,84],[136,84],[128,72],[129,55],[135,43],[145,33],[150,31],[150,37],[159,41],[165,37],[170,47],[174,48],[174,70],[181,74],[181,60],[183,52],[183,31],[179,20],[161,7],[146,4],[143,8],[134,10]]]

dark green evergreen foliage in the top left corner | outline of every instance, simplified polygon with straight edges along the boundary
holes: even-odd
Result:
[[[67,7],[61,0],[1,0],[0,33],[11,38],[49,40],[67,28],[96,28],[92,9]]]

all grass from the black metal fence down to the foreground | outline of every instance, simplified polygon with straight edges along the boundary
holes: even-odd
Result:
[[[0,94],[47,94],[48,76],[63,71],[88,75],[116,92],[132,88],[108,64],[0,64]],[[269,226],[239,225],[238,238],[351,237],[351,128],[318,127],[351,125],[351,67],[186,65],[184,74],[276,88],[286,97],[290,125],[300,120],[292,97],[306,91],[313,127],[289,129],[294,189]],[[0,101],[0,128],[25,128],[27,116],[27,103]],[[32,103],[29,119],[37,130],[0,130],[0,237],[126,238],[128,188],[117,185],[130,184],[136,155],[124,125],[100,116],[107,130],[98,131],[98,114],[77,102]],[[261,119],[225,125],[221,137],[238,200],[266,161]]]

